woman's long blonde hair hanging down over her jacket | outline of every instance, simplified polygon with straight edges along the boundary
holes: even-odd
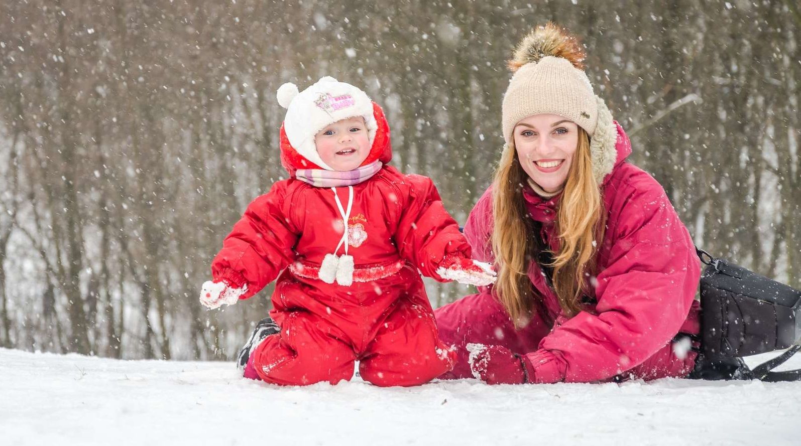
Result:
[[[527,275],[529,263],[542,249],[535,225],[525,209],[523,185],[528,175],[517,159],[512,140],[504,149],[493,179],[492,245],[498,265],[494,290],[516,327],[528,322],[537,305]],[[578,127],[578,147],[557,210],[559,252],[553,253],[553,288],[566,315],[581,311],[582,294],[594,274],[598,244],[603,239],[601,192],[592,171],[590,137]]]

